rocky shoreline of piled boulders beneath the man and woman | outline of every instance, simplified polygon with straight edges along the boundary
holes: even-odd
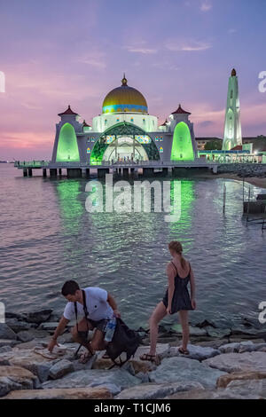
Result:
[[[99,351],[80,364],[70,326],[53,355],[43,355],[58,322],[51,310],[6,313],[0,324],[0,399],[266,399],[266,328],[248,319],[233,328],[207,320],[191,326],[187,356],[177,349],[180,325],[160,326],[159,366],[139,359],[149,350],[148,329],[140,327],[135,357],[113,369]]]

